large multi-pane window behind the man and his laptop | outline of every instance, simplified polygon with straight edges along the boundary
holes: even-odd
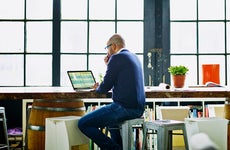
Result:
[[[143,7],[144,0],[0,1],[0,86],[68,86],[66,71],[85,69],[98,81],[114,33],[143,60]]]

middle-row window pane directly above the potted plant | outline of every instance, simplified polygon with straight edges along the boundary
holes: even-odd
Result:
[[[171,23],[171,53],[196,53],[196,23]]]

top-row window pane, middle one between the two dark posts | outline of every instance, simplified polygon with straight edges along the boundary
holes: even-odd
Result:
[[[90,19],[115,19],[114,0],[90,0]]]

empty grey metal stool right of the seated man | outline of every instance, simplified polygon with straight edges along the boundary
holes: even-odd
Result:
[[[172,131],[182,130],[184,134],[185,147],[188,149],[188,141],[183,121],[176,120],[155,120],[152,122],[143,123],[143,146],[142,150],[147,149],[147,132],[155,130],[157,132],[157,149],[171,150],[172,149]]]

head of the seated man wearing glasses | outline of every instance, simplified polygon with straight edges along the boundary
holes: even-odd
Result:
[[[109,38],[107,42],[107,49],[109,55],[115,54],[121,48],[124,47],[125,47],[125,40],[119,34],[114,34]]]

